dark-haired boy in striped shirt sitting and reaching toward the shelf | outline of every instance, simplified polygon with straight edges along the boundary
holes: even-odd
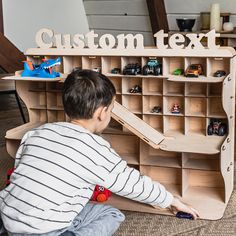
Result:
[[[99,136],[110,121],[115,93],[97,72],[77,70],[67,77],[62,96],[70,122],[48,123],[24,135],[11,183],[0,192],[2,232],[112,235],[125,217],[111,206],[89,203],[95,185],[198,217],[164,186],[128,167]]]

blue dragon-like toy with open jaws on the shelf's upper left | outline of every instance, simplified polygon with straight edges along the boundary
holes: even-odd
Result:
[[[39,78],[56,78],[60,77],[60,73],[54,71],[53,68],[61,64],[61,58],[43,59],[39,65],[33,64],[32,61],[24,62],[24,70],[21,74],[23,77],[39,77]]]

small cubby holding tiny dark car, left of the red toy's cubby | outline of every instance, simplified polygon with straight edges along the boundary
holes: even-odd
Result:
[[[161,115],[163,110],[162,96],[143,96],[143,113]]]

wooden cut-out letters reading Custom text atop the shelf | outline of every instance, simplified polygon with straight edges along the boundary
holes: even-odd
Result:
[[[217,49],[220,46],[216,45],[216,37],[219,37],[220,34],[217,34],[215,30],[211,30],[206,34],[199,33],[189,33],[185,36],[176,33],[169,37],[167,33],[164,33],[164,30],[158,31],[154,34],[156,40],[156,47],[158,49],[191,49],[191,50],[202,50],[205,48],[208,49]],[[46,42],[45,37],[49,39],[49,42]],[[97,40],[98,34],[94,31],[90,31],[87,34],[75,34],[71,36],[70,34],[55,34],[51,29],[40,29],[36,33],[36,43],[39,48],[48,49],[48,48],[58,48],[58,49],[144,49],[144,39],[142,34],[119,34],[116,37],[111,34],[104,34]],[[168,38],[168,44],[165,44],[165,38]],[[204,47],[201,43],[201,40],[206,38],[207,45]],[[96,43],[96,42],[98,43]],[[187,44],[187,45],[186,45]]]

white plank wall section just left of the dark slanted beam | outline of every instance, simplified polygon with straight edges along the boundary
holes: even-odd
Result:
[[[90,30],[102,34],[137,34],[153,45],[146,0],[84,0]]]

